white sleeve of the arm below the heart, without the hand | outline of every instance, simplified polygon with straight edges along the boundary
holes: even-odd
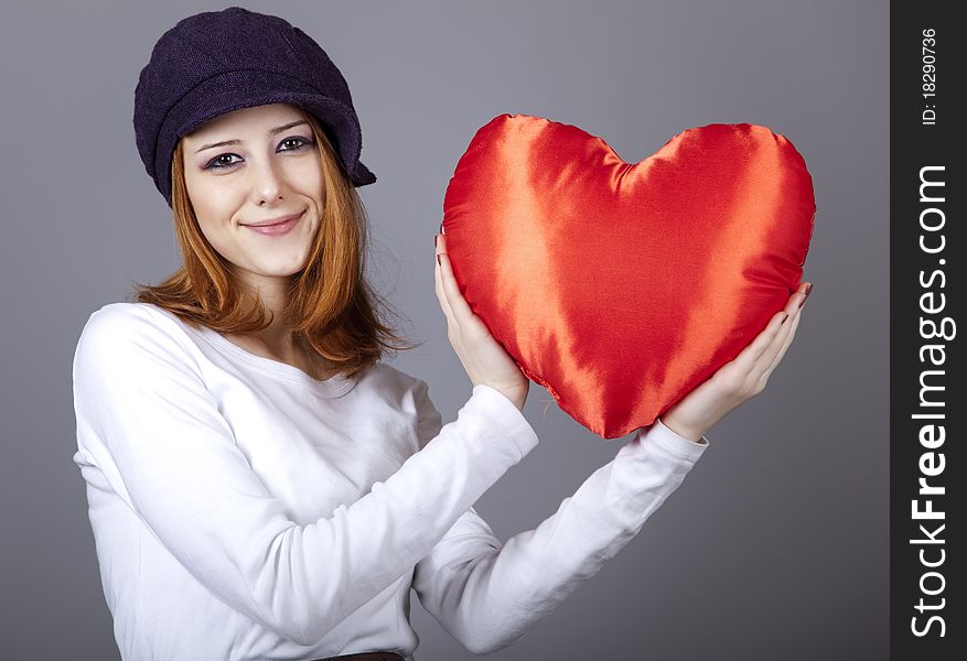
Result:
[[[658,420],[506,544],[470,508],[417,565],[420,603],[469,651],[506,647],[631,541],[707,446]]]

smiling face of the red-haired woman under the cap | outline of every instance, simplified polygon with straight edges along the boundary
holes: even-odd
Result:
[[[182,140],[198,226],[233,271],[260,289],[301,270],[325,204],[305,115],[286,104],[241,108]]]

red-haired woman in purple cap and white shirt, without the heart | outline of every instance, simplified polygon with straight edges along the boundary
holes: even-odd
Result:
[[[319,45],[240,8],[181,21],[136,90],[184,264],[105,305],[74,357],[78,448],[126,660],[411,659],[409,596],[469,650],[519,638],[626,544],[762,391],[804,284],[732,362],[535,530],[473,503],[537,443],[528,380],[472,313],[437,236],[437,296],[472,383],[445,425],[364,279],[375,181]]]

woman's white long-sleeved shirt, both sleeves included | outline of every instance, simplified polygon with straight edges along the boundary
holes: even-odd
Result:
[[[477,653],[626,544],[707,440],[640,430],[505,544],[472,505],[536,444],[476,386],[454,422],[385,364],[319,381],[160,307],[92,314],[74,356],[75,463],[122,659],[412,659],[410,588]]]

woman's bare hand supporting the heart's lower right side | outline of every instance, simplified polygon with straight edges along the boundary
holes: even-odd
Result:
[[[762,392],[793,342],[803,303],[812,289],[812,283],[801,283],[785,308],[770,319],[759,337],[660,415],[662,423],[680,436],[699,441],[729,412]],[[784,322],[785,314],[789,316]]]

